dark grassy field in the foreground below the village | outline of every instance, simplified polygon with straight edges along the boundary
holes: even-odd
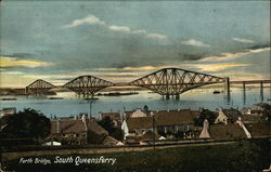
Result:
[[[75,161],[77,155],[70,155]],[[81,155],[80,158],[114,157],[115,164],[22,164],[4,166],[13,171],[157,171],[157,172],[261,172],[270,166],[270,141],[241,141],[228,145],[188,146],[137,153]],[[35,157],[33,157],[35,158]],[[44,158],[44,157],[40,157]],[[46,157],[53,162],[55,156]]]

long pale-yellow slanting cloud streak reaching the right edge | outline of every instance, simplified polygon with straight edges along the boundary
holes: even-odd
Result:
[[[217,56],[208,56],[208,57],[204,57],[204,58],[198,59],[198,61],[201,61],[201,62],[229,61],[229,59],[242,57],[244,55],[248,55],[248,54],[253,54],[253,53],[260,53],[260,52],[264,52],[264,51],[270,51],[270,48],[250,49],[250,50],[246,50],[243,52],[236,52],[236,53],[220,53]]]

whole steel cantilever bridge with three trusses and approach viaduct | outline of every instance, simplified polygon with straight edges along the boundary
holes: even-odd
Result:
[[[166,95],[167,97],[169,97],[169,95],[179,97],[180,94],[189,90],[214,83],[224,83],[225,92],[230,94],[230,83],[243,85],[261,83],[262,88],[262,84],[270,83],[270,80],[230,82],[227,77],[221,78],[180,68],[163,68],[128,83],[113,83],[93,76],[79,76],[61,88],[67,88],[79,95],[94,96],[96,92],[108,87],[133,85],[149,89],[160,95]],[[54,88],[57,87],[38,79],[26,87],[26,93],[43,94]]]

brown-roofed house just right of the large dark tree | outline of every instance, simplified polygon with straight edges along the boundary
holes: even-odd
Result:
[[[51,120],[49,140],[61,142],[64,145],[102,144],[117,145],[118,141],[108,136],[108,132],[99,125],[95,120],[64,118]]]

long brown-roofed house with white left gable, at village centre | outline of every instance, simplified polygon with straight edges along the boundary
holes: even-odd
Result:
[[[121,129],[125,132],[125,137],[139,135],[153,131],[153,129],[159,135],[181,132],[184,134],[184,137],[195,137],[199,132],[195,128],[194,118],[199,117],[201,111],[178,109],[150,111],[150,116],[139,115],[137,117],[129,116],[129,118],[124,120]]]

